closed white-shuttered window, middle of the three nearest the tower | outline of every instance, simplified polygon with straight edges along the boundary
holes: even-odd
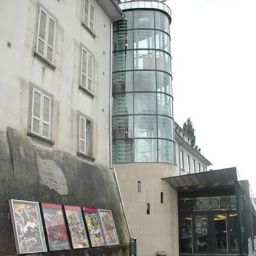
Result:
[[[84,47],[81,49],[80,84],[89,92],[93,92],[93,55]]]

